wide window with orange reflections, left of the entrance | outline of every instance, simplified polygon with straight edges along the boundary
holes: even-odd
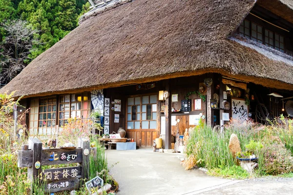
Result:
[[[68,94],[59,97],[59,126],[64,126],[68,118],[85,118],[90,112],[89,93]]]

